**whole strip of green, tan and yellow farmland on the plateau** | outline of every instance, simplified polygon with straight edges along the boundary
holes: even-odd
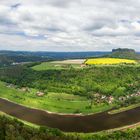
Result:
[[[119,58],[95,58],[95,59],[73,59],[63,61],[43,62],[32,67],[36,71],[45,70],[64,70],[64,69],[80,69],[88,67],[87,65],[117,65],[117,64],[137,64],[135,60],[119,59]]]

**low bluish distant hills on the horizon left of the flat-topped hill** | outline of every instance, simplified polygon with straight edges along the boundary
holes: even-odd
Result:
[[[49,60],[80,59],[97,57],[109,52],[25,52],[0,51],[0,67],[22,62],[42,62]]]

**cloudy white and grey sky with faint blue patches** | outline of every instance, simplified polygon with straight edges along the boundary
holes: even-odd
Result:
[[[140,51],[140,0],[0,0],[0,50]]]

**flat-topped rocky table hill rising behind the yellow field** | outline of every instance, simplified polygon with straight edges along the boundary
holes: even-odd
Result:
[[[112,53],[106,55],[106,57],[111,58],[125,58],[125,59],[140,59],[140,54],[136,53],[133,49],[128,48],[118,48],[113,49]]]

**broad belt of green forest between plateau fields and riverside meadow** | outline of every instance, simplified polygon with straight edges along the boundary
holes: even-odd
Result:
[[[0,70],[0,79],[48,92],[87,96],[90,91],[121,96],[139,90],[139,66],[104,66],[85,69],[34,71],[25,66]],[[137,82],[137,83],[136,83]],[[130,87],[129,85],[132,86]]]

